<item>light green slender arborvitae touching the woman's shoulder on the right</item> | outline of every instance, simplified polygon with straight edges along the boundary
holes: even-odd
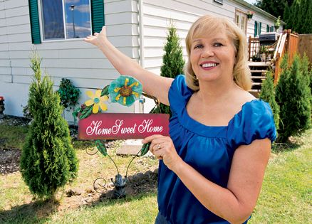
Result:
[[[261,100],[269,102],[274,115],[276,129],[279,129],[279,105],[275,100],[274,79],[271,70],[266,72],[266,80],[262,83],[259,97]]]

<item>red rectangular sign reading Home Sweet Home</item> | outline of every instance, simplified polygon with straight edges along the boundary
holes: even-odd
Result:
[[[169,136],[169,114],[91,114],[78,123],[79,139],[144,139]]]

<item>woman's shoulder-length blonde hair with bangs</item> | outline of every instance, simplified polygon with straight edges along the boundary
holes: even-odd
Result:
[[[189,57],[192,41],[194,38],[198,38],[207,35],[207,33],[215,33],[224,30],[227,33],[228,38],[232,39],[233,46],[236,55],[236,63],[233,68],[233,79],[236,85],[244,90],[250,90],[251,88],[251,75],[247,60],[247,41],[246,36],[241,31],[241,29],[236,26],[232,21],[227,18],[220,18],[215,16],[201,16],[193,23],[189,32],[187,33],[187,38],[185,43],[187,46],[187,55]],[[187,86],[192,90],[199,90],[198,80],[190,61],[187,62],[187,67],[185,69],[185,76],[187,81]]]

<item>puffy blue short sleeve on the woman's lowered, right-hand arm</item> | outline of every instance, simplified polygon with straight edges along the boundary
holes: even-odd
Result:
[[[251,144],[256,139],[276,139],[271,107],[263,100],[246,102],[241,111],[229,122],[227,139],[233,149]]]

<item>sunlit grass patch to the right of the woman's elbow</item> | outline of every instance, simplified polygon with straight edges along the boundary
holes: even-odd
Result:
[[[274,154],[250,223],[312,223],[312,129]]]

